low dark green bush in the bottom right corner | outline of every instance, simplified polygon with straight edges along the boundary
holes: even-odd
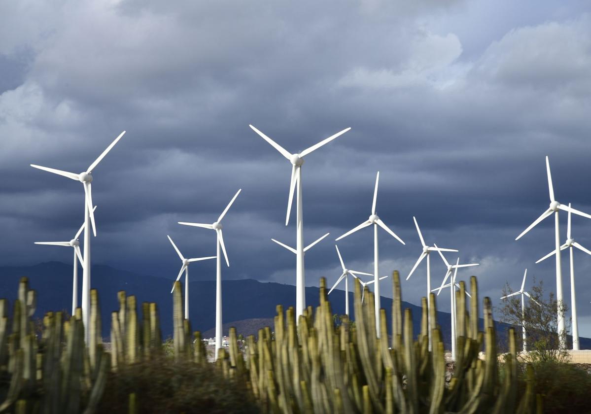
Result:
[[[543,399],[544,413],[589,413],[591,375],[567,363],[534,364],[535,392]]]

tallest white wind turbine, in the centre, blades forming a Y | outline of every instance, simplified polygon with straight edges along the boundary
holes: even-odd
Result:
[[[318,144],[310,146],[310,148],[304,149],[299,154],[290,154],[285,148],[277,144],[267,135],[256,129],[254,126],[249,125],[252,131],[258,133],[262,139],[267,141],[273,148],[277,149],[281,155],[291,162],[291,182],[290,182],[290,195],[287,201],[287,214],[285,215],[285,226],[290,221],[291,204],[293,203],[294,191],[297,185],[297,196],[296,196],[296,321],[299,320],[304,309],[306,309],[306,279],[304,278],[304,219],[302,211],[302,200],[301,200],[301,165],[304,164],[304,157],[310,154],[321,146],[328,144],[337,136],[343,135],[343,133],[349,131],[350,128],[343,129],[343,131],[335,133],[335,135],[329,136],[329,138],[323,139]]]

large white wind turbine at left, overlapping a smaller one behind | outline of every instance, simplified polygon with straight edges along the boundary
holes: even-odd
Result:
[[[85,193],[85,206],[84,206],[84,265],[82,266],[82,321],[85,327],[86,342],[89,340],[89,332],[87,329],[90,321],[90,233],[89,226],[92,225],[92,232],[96,236],[95,226],[95,214],[92,210],[92,171],[99,164],[99,162],[108,154],[109,151],[117,144],[119,139],[124,135],[125,131],[121,132],[115,141],[109,145],[99,158],[95,159],[95,162],[90,164],[90,167],[86,171],[80,172],[80,174],[74,174],[73,172],[61,171],[60,169],[41,167],[40,165],[31,164],[31,167],[43,169],[44,171],[53,172],[54,174],[63,175],[64,177],[70,178],[70,180],[76,180],[82,182],[84,185]]]

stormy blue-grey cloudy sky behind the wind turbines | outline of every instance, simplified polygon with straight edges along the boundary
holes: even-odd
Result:
[[[458,279],[556,290],[544,157],[561,203],[591,213],[591,13],[584,1],[0,3],[0,265],[69,262],[83,188],[31,168],[93,172],[93,263],[174,278],[180,260],[215,255],[215,233],[177,221],[223,220],[224,279],[295,284],[295,208],[285,226],[290,152],[352,128],[306,157],[306,283],[340,275],[336,237],[377,213],[405,242],[379,234],[379,270],[402,278],[430,245],[459,249]],[[573,217],[591,248],[591,221]],[[561,213],[561,242],[566,214]],[[340,240],[348,268],[372,271],[371,228]],[[580,334],[591,337],[591,257],[576,252]],[[423,262],[403,299],[426,295]],[[445,273],[431,259],[433,286]],[[215,278],[215,263],[191,277]],[[570,307],[568,256],[563,286]],[[391,292],[382,281],[381,292]],[[449,295],[440,296],[449,310]]]

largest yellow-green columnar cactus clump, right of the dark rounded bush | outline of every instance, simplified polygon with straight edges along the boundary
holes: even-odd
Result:
[[[519,384],[515,332],[509,331],[509,353],[499,365],[491,301],[484,299],[484,332],[478,331],[478,289],[470,280],[472,301],[466,309],[465,285],[457,292],[458,355],[453,377],[446,383],[441,330],[428,332],[427,309],[436,320],[434,295],[423,298],[421,332],[415,335],[410,309],[402,314],[400,276],[394,272],[392,339],[389,343],[385,311],[375,326],[372,293],[355,283],[355,325],[347,320],[335,328],[325,281],[320,283],[320,305],[309,307],[298,324],[293,308],[277,307],[274,335],[259,330],[248,337],[245,361],[236,357],[230,340],[229,356],[217,364],[226,375],[242,376],[267,412],[336,413],[530,413],[540,409],[533,394],[532,371]],[[376,335],[378,332],[381,335]],[[428,349],[431,335],[433,348]],[[479,358],[484,350],[485,358]],[[234,356],[232,356],[234,354]],[[499,374],[499,369],[502,374]],[[518,387],[524,387],[521,398]]]

